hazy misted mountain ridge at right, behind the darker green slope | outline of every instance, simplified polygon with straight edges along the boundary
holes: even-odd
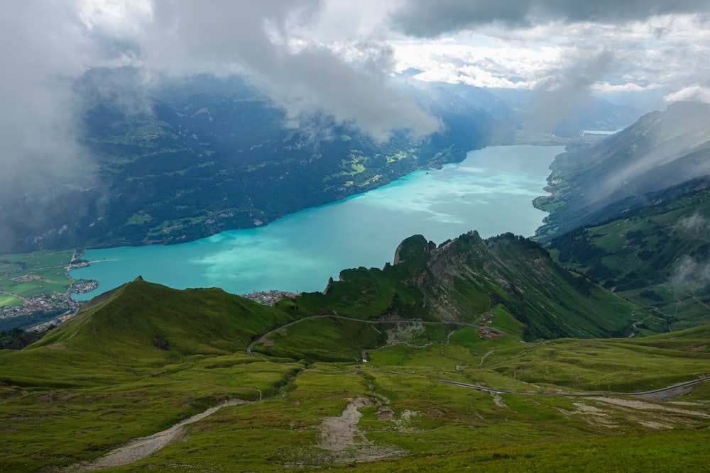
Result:
[[[550,212],[537,236],[545,241],[621,216],[664,189],[675,187],[674,196],[702,189],[709,156],[710,105],[690,102],[648,113],[593,148],[569,149],[550,167],[552,196],[535,201]]]

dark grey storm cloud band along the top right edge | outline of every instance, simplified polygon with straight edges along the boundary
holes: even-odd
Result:
[[[435,37],[486,23],[529,27],[538,21],[624,23],[670,13],[708,13],[706,0],[406,0],[391,14],[404,33]]]

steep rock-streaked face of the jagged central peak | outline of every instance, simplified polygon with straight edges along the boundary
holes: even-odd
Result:
[[[603,337],[626,330],[633,310],[602,308],[599,297],[610,304],[616,298],[512,234],[483,240],[471,231],[439,247],[415,235],[397,256],[394,270],[407,274],[406,284],[417,287],[422,307],[438,321],[472,321],[500,304],[528,325],[529,338]]]

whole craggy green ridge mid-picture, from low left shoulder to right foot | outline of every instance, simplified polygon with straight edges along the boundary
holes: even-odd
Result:
[[[482,240],[471,232],[436,247],[421,235],[383,269],[348,269],[324,294],[304,294],[295,313],[363,320],[418,318],[475,322],[512,314],[525,337],[600,337],[630,333],[643,308],[562,269],[537,244],[511,234]]]

